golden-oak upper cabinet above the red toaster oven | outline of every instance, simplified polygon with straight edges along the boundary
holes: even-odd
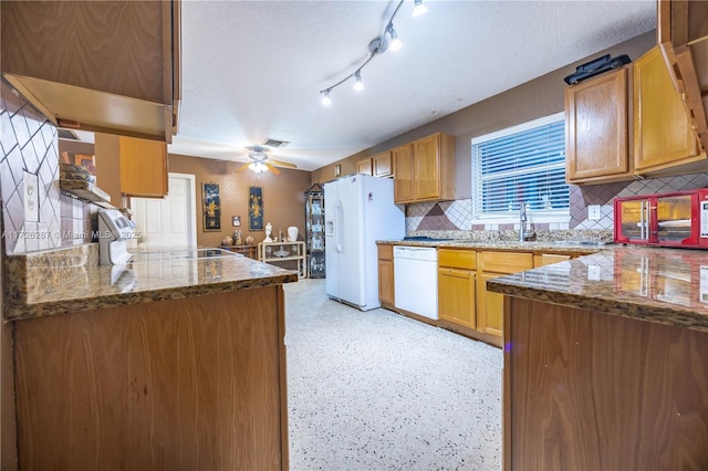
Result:
[[[634,161],[647,176],[708,169],[658,46],[634,62]]]

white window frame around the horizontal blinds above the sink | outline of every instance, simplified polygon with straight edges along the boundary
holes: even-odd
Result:
[[[471,168],[471,200],[472,200],[472,223],[473,224],[507,224],[507,223],[518,223],[519,222],[519,210],[511,210],[507,212],[493,212],[493,213],[483,213],[479,211],[479,205],[481,201],[477,201],[477,195],[479,193],[479,186],[481,185],[481,179],[478,177],[478,168],[479,165],[476,161],[475,149],[479,144],[487,143],[489,140],[498,139],[501,137],[506,137],[512,134],[522,133],[524,130],[533,129],[535,127],[544,126],[552,123],[563,122],[565,121],[565,113],[559,112],[553,113],[548,116],[543,116],[540,118],[535,118],[525,123],[518,124],[516,126],[507,127],[503,129],[496,130],[493,133],[488,133],[481,136],[476,136],[471,139],[470,146],[470,168]],[[563,133],[563,136],[565,133]],[[565,155],[565,139],[563,138],[563,154]],[[569,186],[569,207],[563,209],[553,209],[553,210],[531,210],[527,211],[529,219],[532,222],[548,222],[548,223],[568,223],[570,222],[570,184]]]

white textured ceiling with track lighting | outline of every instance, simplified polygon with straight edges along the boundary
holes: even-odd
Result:
[[[394,27],[365,88],[319,92],[366,59],[397,1],[183,2],[183,102],[169,151],[242,161],[246,146],[314,170],[656,25],[656,2],[444,1]]]

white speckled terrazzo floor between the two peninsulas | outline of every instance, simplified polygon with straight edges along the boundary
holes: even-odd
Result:
[[[501,469],[500,349],[284,290],[291,470]]]

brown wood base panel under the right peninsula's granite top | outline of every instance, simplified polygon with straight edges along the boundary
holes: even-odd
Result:
[[[503,469],[708,469],[708,333],[508,296]]]

